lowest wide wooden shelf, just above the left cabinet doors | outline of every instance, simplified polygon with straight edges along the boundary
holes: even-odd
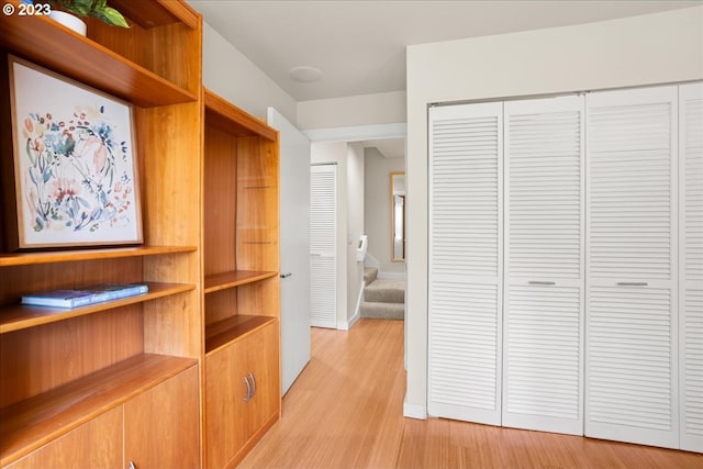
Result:
[[[0,411],[0,466],[197,365],[142,354]]]

